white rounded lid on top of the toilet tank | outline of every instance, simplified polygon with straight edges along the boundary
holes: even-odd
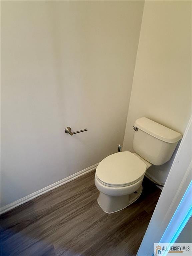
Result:
[[[146,117],[137,119],[135,121],[135,126],[151,136],[168,143],[178,142],[182,138],[182,135],[179,132],[171,130],[166,126],[156,123]]]

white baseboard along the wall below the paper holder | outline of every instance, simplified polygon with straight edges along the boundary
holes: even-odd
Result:
[[[48,192],[48,191],[50,191],[52,189],[55,189],[55,188],[65,184],[65,183],[68,183],[68,182],[70,182],[70,181],[72,181],[74,179],[77,179],[78,177],[80,177],[80,176],[82,176],[82,175],[84,175],[84,174],[86,174],[88,172],[91,172],[91,171],[95,170],[97,168],[98,164],[99,163],[94,164],[94,165],[92,165],[92,166],[90,166],[90,167],[88,167],[88,168],[86,168],[86,169],[84,169],[84,170],[82,170],[80,172],[74,173],[74,174],[70,175],[69,177],[66,177],[66,178],[64,178],[62,180],[59,180],[59,181],[57,181],[57,182],[55,182],[55,183],[53,183],[53,184],[51,184],[51,185],[49,185],[49,186],[47,186],[45,188],[42,188],[42,189],[40,189],[40,190],[38,190],[38,191],[28,195],[28,196],[25,196],[25,197],[15,201],[15,202],[12,202],[12,203],[10,203],[8,205],[3,206],[1,208],[1,214],[5,213],[5,212],[8,212],[11,209],[13,209],[13,208],[15,208],[15,207],[17,207],[17,206],[19,206],[21,204],[24,204],[24,203],[26,203],[26,202],[28,202],[28,201],[30,201],[30,200],[32,200],[32,199],[42,195],[42,194],[45,194],[46,192]]]

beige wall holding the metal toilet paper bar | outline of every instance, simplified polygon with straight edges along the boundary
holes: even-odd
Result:
[[[1,2],[2,206],[117,152],[143,4]]]

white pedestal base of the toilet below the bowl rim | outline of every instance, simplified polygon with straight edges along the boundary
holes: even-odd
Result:
[[[97,198],[97,202],[101,209],[105,213],[114,213],[123,210],[133,202],[137,200],[137,198],[141,195],[143,190],[142,185],[135,191],[137,193],[132,193],[125,196],[110,196],[99,193],[99,197]]]

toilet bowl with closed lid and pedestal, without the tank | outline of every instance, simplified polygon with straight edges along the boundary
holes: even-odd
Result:
[[[141,195],[145,172],[151,166],[144,161],[136,153],[125,151],[100,162],[95,173],[95,185],[100,191],[97,202],[104,212],[120,211]]]

